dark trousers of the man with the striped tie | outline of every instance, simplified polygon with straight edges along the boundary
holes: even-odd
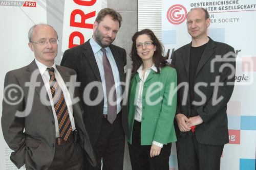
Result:
[[[74,143],[72,137],[67,143],[55,144],[55,154],[49,170],[81,170],[83,160],[83,149],[79,143]]]

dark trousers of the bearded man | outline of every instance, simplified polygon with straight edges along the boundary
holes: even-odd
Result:
[[[97,166],[93,167],[88,161],[86,168],[88,170],[122,170],[124,157],[124,131],[122,128],[122,114],[119,112],[113,124],[110,124],[107,118],[102,119],[102,125],[99,137],[93,145]]]

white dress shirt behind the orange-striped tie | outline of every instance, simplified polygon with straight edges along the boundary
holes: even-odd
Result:
[[[40,63],[39,61],[37,61],[35,59],[35,63],[40,71],[42,80],[44,81],[49,99],[50,99],[50,103],[51,103],[51,107],[52,107],[52,112],[53,112],[53,116],[54,116],[54,123],[55,123],[55,131],[56,131],[56,137],[59,137],[59,124],[58,124],[58,119],[57,119],[57,115],[54,109],[54,104],[53,104],[53,99],[52,99],[52,93],[51,93],[51,88],[50,88],[50,75],[49,72],[47,70],[48,66]],[[72,108],[72,101],[71,101],[71,97],[69,94],[69,90],[65,84],[65,82],[63,81],[61,75],[59,74],[59,71],[56,68],[56,64],[54,63],[52,66],[55,70],[54,70],[54,76],[56,78],[56,81],[58,82],[59,87],[61,88],[64,98],[65,98],[65,102],[67,104],[68,107],[68,111],[69,111],[69,118],[70,118],[70,123],[72,126],[72,130],[74,131],[75,128],[75,120],[73,117],[73,108]]]

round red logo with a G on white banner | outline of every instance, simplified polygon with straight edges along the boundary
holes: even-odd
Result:
[[[184,6],[176,4],[168,9],[166,16],[170,23],[179,25],[186,19],[187,10]]]

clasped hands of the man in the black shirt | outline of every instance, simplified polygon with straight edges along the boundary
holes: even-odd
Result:
[[[181,132],[188,132],[191,130],[191,126],[197,126],[203,123],[203,119],[199,115],[187,118],[184,114],[179,113],[175,118]]]

